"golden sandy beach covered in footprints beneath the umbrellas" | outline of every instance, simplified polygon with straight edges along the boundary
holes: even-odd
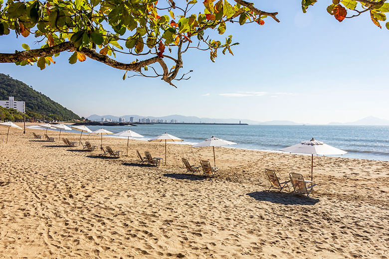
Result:
[[[20,124],[19,124],[20,125]],[[268,192],[264,169],[310,177],[310,156],[216,147],[220,173],[185,174],[211,148],[130,140],[129,156],[0,128],[0,258],[389,258],[389,162],[315,157],[309,198]],[[61,137],[78,141],[79,133]],[[83,136],[99,145],[100,136]],[[126,139],[103,138],[126,150]]]

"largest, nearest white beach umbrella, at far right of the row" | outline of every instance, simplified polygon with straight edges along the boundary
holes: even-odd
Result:
[[[327,145],[321,141],[315,140],[314,138],[280,150],[289,153],[312,154],[311,181],[313,179],[313,155],[344,155],[347,153],[342,149]]]

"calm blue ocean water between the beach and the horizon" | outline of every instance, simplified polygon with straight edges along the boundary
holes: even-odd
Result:
[[[91,130],[101,126],[88,126]],[[273,126],[273,125],[175,125],[103,126],[112,132],[131,129],[148,140],[168,132],[198,143],[211,136],[238,143],[229,147],[278,151],[312,137],[343,149],[343,157],[389,161],[388,126]]]

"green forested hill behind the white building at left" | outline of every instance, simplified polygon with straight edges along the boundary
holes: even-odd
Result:
[[[26,114],[35,120],[79,120],[80,117],[47,96],[35,91],[31,86],[0,73],[0,100],[13,96],[15,101],[24,101]]]

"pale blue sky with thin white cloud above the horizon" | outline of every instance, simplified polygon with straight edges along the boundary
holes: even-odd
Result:
[[[194,70],[178,89],[160,79],[128,78],[124,71],[87,59],[68,64],[61,53],[43,71],[36,66],[0,64],[0,72],[21,80],[80,116],[166,116],[180,114],[256,121],[290,120],[326,124],[366,116],[389,120],[389,30],[365,14],[337,21],[320,0],[307,13],[300,1],[256,1],[258,8],[278,11],[280,23],[227,25],[240,44],[234,56],[193,50],[183,72]],[[1,36],[1,52],[33,47],[33,39]],[[130,59],[132,61],[132,58]],[[128,73],[129,74],[129,73]],[[27,101],[27,100],[26,100]]]

